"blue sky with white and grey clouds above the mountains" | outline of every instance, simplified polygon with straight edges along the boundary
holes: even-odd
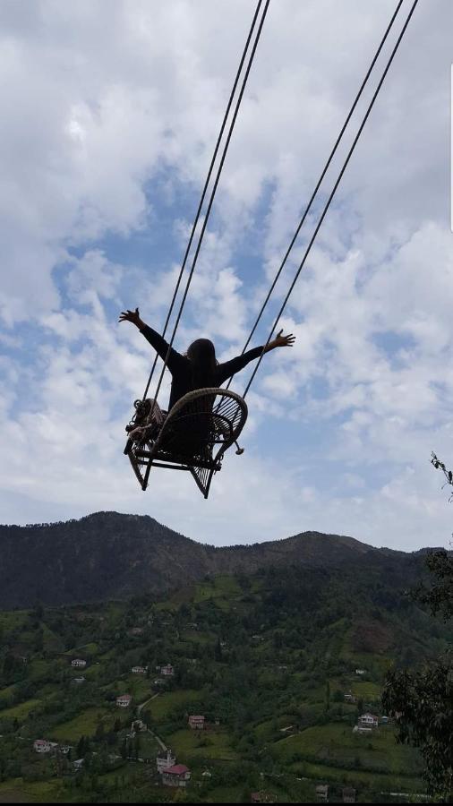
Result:
[[[271,0],[175,347],[241,352],[396,4]],[[142,493],[123,455],[152,356],[117,316],[163,327],[254,7],[0,0],[3,523],[116,510],[214,544],[449,544],[430,458],[453,465],[450,0],[418,4],[286,309],[295,347],[249,394],[244,456],[205,502],[167,470]]]

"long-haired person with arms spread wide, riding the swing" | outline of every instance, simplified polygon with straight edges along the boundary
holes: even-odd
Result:
[[[142,321],[138,308],[135,308],[135,311],[123,311],[118,322],[132,322],[145,339],[150,342],[151,347],[154,347],[162,361],[166,360],[168,342],[156,330],[150,328],[150,325]],[[265,353],[269,353],[275,347],[293,346],[295,336],[292,333],[288,336],[282,336],[281,333],[282,331],[280,330],[278,336],[269,341],[269,344],[264,347]],[[221,387],[222,383],[225,383],[228,378],[244,369],[244,366],[253,361],[254,358],[259,358],[262,350],[263,345],[253,347],[242,356],[236,356],[223,364],[218,364],[216,348],[209,339],[192,341],[184,356],[172,347],[167,359],[167,368],[172,375],[168,410],[175,405],[177,400],[183,398],[187,392],[206,387]],[[154,401],[152,419],[158,426],[162,425],[165,419],[165,414],[158,406],[157,401]],[[129,434],[130,438],[136,439],[140,431],[142,429],[139,428],[132,431]]]

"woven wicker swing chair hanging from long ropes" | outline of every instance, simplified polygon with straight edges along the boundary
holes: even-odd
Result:
[[[151,467],[188,470],[204,498],[212,477],[222,467],[225,451],[244,428],[247,404],[230,390],[188,392],[168,412],[159,430],[142,440],[129,438],[127,453],[141,489],[146,490]]]

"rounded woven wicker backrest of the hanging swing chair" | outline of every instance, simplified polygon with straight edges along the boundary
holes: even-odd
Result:
[[[156,449],[209,459],[215,446],[223,454],[237,440],[246,417],[247,405],[235,392],[215,387],[188,392],[168,412]]]

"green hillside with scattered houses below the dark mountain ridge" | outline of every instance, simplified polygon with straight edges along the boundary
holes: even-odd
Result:
[[[330,802],[346,785],[358,802],[413,799],[422,762],[380,721],[381,685],[449,635],[404,583],[404,570],[372,563],[290,565],[165,599],[0,613],[0,802],[173,801],[156,768],[162,744],[192,773],[177,800],[313,802],[321,784]],[[124,694],[131,705],[117,707]],[[379,725],[360,733],[366,711]],[[207,728],[192,730],[191,714]],[[133,734],[138,717],[147,729]],[[36,739],[60,750],[38,754]]]

